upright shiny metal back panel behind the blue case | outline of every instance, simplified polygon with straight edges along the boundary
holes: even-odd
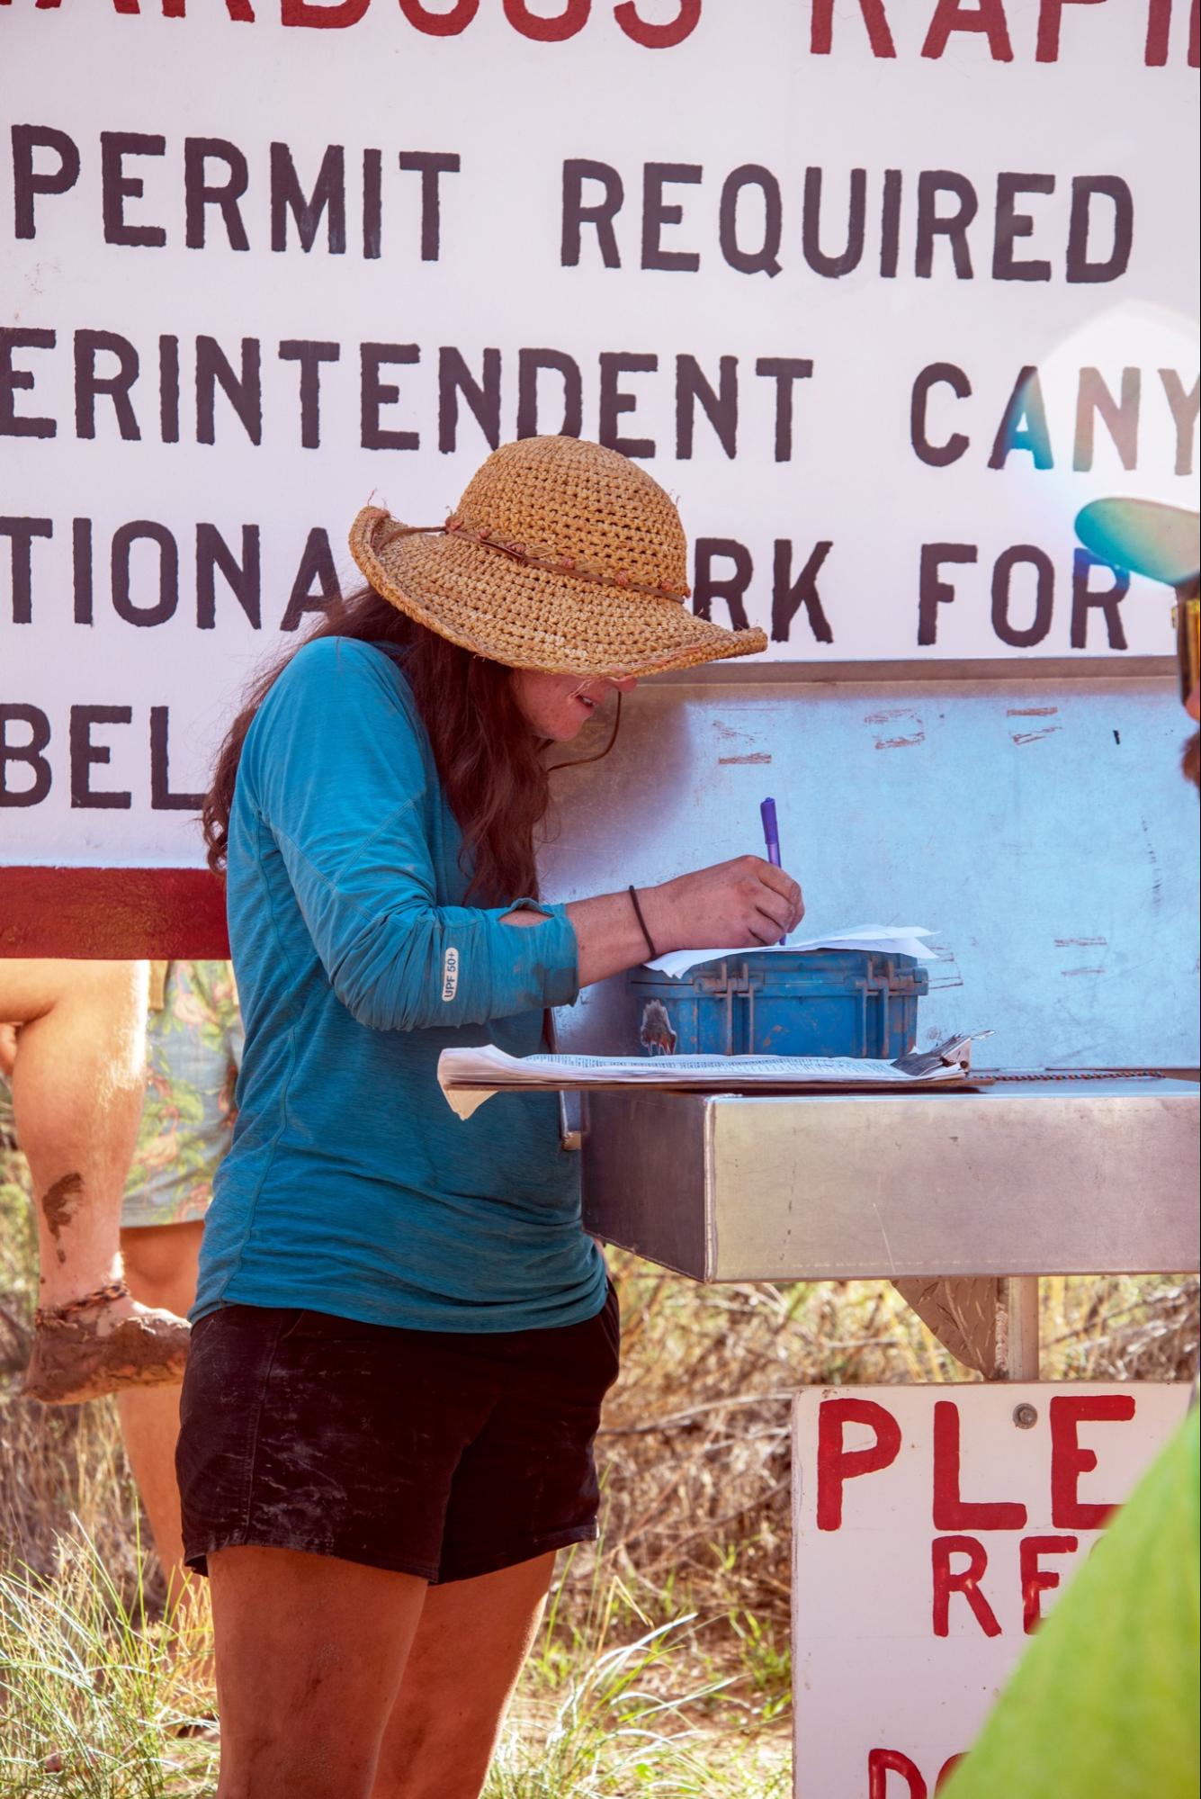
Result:
[[[1172,680],[1120,671],[836,682],[746,666],[737,680],[647,682],[613,754],[554,775],[543,892],[574,900],[759,853],[773,793],[814,930],[879,917],[937,934],[921,1045],[992,1027],[998,1067],[1188,1067],[1188,729]],[[590,730],[599,748],[602,727]],[[624,977],[563,1009],[559,1040],[636,1049]]]

